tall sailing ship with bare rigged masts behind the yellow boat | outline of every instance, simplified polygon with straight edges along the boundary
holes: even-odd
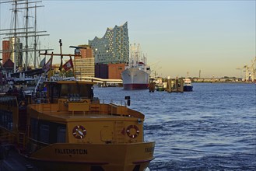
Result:
[[[44,6],[38,5],[39,1],[29,0],[1,1],[0,4],[10,2],[12,15],[2,15],[5,16],[2,20],[9,19],[11,28],[0,28],[0,36],[3,36],[3,41],[0,43],[2,44],[0,92],[5,92],[9,86],[22,86],[26,92],[31,92],[31,86],[33,89],[40,75],[44,73],[42,61],[45,60],[41,61],[38,51],[51,50],[40,49],[38,46],[39,37],[49,35],[45,31],[37,30],[37,9]]]

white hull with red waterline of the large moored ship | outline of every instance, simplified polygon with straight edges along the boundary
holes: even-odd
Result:
[[[128,68],[121,73],[124,89],[148,89],[149,74],[139,68]]]

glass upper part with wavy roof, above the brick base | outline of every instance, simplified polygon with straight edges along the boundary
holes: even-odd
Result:
[[[95,63],[120,64],[129,61],[128,23],[114,28],[107,28],[102,38],[95,37],[89,40],[93,48]]]

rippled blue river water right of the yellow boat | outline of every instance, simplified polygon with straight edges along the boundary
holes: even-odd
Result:
[[[145,141],[156,141],[153,170],[256,170],[256,85],[195,83],[193,92],[94,89],[146,116]]]

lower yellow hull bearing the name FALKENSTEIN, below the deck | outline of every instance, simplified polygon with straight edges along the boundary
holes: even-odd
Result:
[[[84,145],[53,144],[30,155],[44,170],[145,170],[153,160],[155,142]]]

